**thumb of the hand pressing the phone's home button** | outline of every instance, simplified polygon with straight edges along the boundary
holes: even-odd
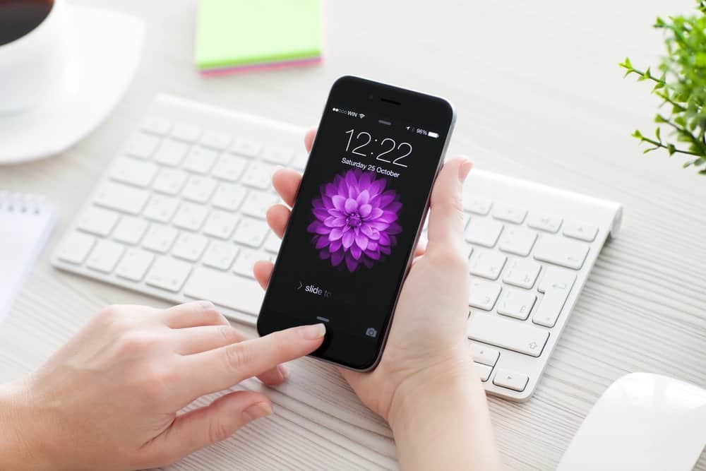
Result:
[[[238,390],[222,395],[205,407],[186,412],[148,443],[148,467],[173,463],[205,446],[232,436],[248,422],[272,414],[272,403],[261,393]],[[143,466],[145,466],[143,464]]]

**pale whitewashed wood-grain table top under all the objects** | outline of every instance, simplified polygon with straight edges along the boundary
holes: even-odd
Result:
[[[353,73],[448,97],[458,113],[451,151],[477,167],[625,205],[621,236],[599,257],[537,393],[525,404],[490,400],[508,468],[553,468],[623,374],[706,387],[706,177],[679,168],[678,157],[642,157],[629,134],[652,132],[657,101],[617,66],[626,55],[654,64],[663,50],[654,17],[688,12],[692,1],[330,1],[322,65],[223,78],[201,78],[193,66],[195,0],[83,3],[144,18],[143,58],[124,100],[88,138],[48,160],[0,167],[0,188],[47,193],[60,211],[0,328],[0,381],[35,369],[105,304],[165,305],[49,265],[156,93],[306,125],[318,121],[335,78]],[[294,362],[291,380],[268,393],[274,417],[170,469],[396,467],[390,429],[330,366]],[[706,470],[706,455],[697,468]]]

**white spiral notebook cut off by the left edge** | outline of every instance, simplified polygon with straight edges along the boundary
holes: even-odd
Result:
[[[54,208],[43,196],[0,191],[0,322],[53,225]]]

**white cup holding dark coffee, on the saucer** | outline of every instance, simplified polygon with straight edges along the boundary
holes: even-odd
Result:
[[[68,68],[66,3],[54,0],[47,18],[0,46],[0,114],[23,112],[59,90]]]

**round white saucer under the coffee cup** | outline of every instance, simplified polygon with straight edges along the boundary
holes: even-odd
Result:
[[[78,142],[107,117],[135,74],[142,20],[85,6],[67,10],[75,47],[64,86],[32,109],[0,114],[0,165],[48,157]]]

